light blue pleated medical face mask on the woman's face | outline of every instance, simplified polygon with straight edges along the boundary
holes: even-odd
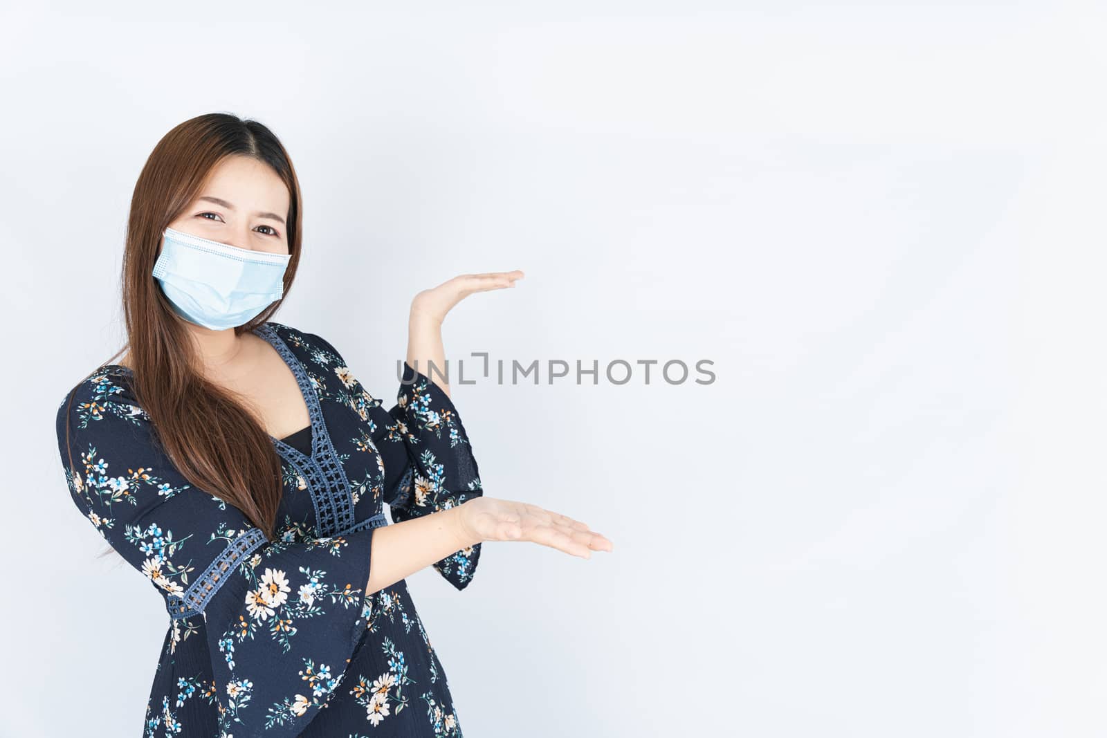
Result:
[[[178,315],[223,331],[248,323],[281,299],[291,258],[166,228],[153,273]]]

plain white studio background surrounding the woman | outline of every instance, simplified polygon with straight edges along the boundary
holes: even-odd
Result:
[[[0,12],[4,736],[139,735],[168,625],[65,490],[177,123],[304,195],[275,320],[395,395],[412,295],[523,269],[447,356],[486,495],[590,523],[410,578],[470,738],[1103,736],[1103,6],[22,3]],[[468,373],[468,367],[467,367]],[[366,725],[366,728],[369,726]]]

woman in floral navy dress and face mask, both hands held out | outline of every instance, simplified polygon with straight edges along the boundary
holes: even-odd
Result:
[[[269,320],[300,248],[300,189],[272,133],[226,114],[178,125],[132,199],[127,353],[59,407],[73,501],[169,613],[145,736],[461,736],[404,578],[433,565],[462,590],[483,541],[586,559],[612,544],[484,497],[431,368],[446,312],[521,272],[415,297],[385,409],[329,342]]]

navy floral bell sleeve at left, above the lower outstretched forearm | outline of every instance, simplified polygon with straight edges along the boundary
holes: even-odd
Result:
[[[56,430],[81,514],[174,621],[203,617],[225,735],[299,735],[335,693],[364,630],[374,529],[268,540],[176,470],[118,376],[74,387]]]

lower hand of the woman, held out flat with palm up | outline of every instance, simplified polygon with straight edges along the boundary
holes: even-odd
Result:
[[[457,506],[457,511],[462,534],[469,541],[530,541],[582,559],[591,559],[592,551],[614,548],[579,520],[537,505],[476,497]]]

